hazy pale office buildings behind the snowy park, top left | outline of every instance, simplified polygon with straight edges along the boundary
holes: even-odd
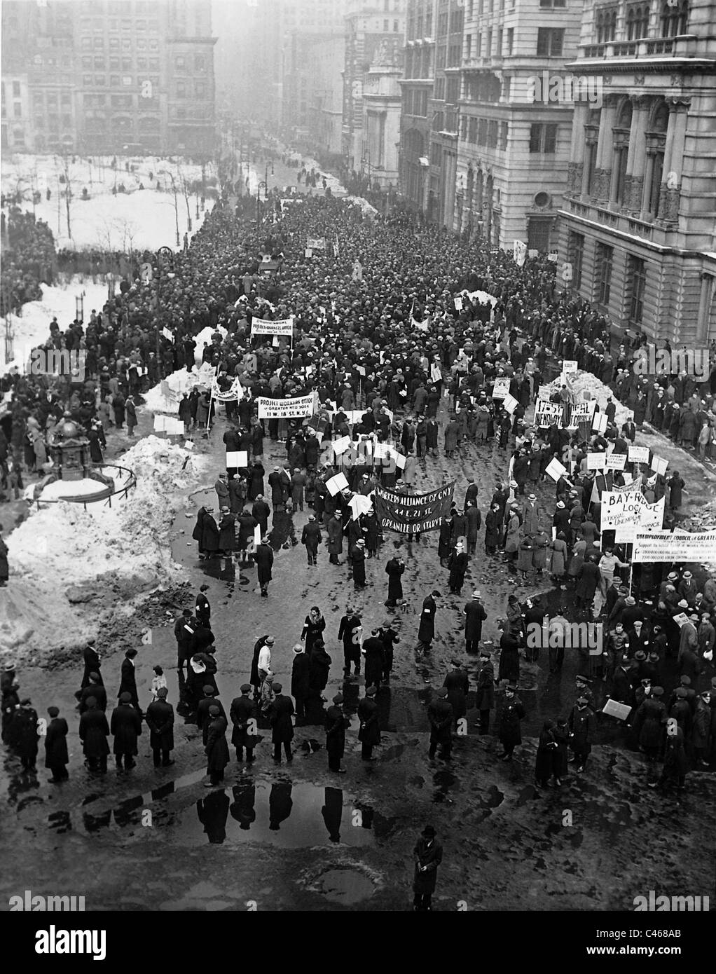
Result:
[[[197,155],[213,148],[210,0],[7,0],[2,24],[3,145]],[[8,89],[23,85],[28,116],[20,126]]]

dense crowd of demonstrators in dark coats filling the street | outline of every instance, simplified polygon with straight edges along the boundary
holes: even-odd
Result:
[[[604,627],[604,651],[594,656],[580,649],[577,686],[565,692],[569,704],[546,721],[539,736],[538,786],[561,785],[570,751],[575,770],[584,772],[597,720],[613,719],[597,717],[605,698],[627,708],[622,743],[643,752],[645,784],[673,781],[683,788],[690,770],[713,768],[716,580],[700,565],[643,564],[632,571],[625,545],[617,543],[614,531],[602,529],[593,496],[599,473],[587,464],[594,451],[626,454],[645,422],[703,458],[716,455],[713,374],[700,383],[686,375],[637,376],[632,364],[639,340],[613,351],[609,322],[584,301],[560,293],[554,266],[544,258],[518,267],[509,254],[485,244],[461,242],[434,228],[418,232],[406,214],[366,220],[359,207],[328,196],[305,198],[282,211],[275,195],[267,210],[257,228],[251,202],[230,198],[227,189],[191,245],[174,255],[170,275],[146,284],[125,281],[86,325],[53,322],[49,346],[87,353],[83,383],[71,387],[65,379],[19,374],[3,382],[4,391],[14,393],[11,442],[2,444],[5,482],[12,486],[13,470],[21,475],[22,464],[25,471],[46,468],[46,433],[63,417],[88,431],[93,459],[101,463],[104,432],[111,424],[120,429],[127,424],[132,432],[146,383],[156,385],[171,372],[190,368],[199,352],[215,367],[219,389],[228,391],[235,377],[241,380],[242,396],[226,402],[223,440],[227,452],[245,452],[246,461],[217,471],[216,504],[201,507],[194,527],[198,557],[236,559],[245,570],[255,566],[260,594],[270,598],[269,520],[275,526],[277,518],[305,510],[309,516],[300,543],[307,572],[320,566],[321,572],[347,574],[359,592],[367,584],[366,563],[372,562],[371,581],[386,583],[388,614],[369,633],[350,602],[330,637],[320,607],[311,608],[296,631],[290,687],[274,678],[275,640],[262,635],[245,684],[233,688],[238,693],[228,708],[220,699],[210,606],[199,593],[175,622],[176,714],[201,731],[207,785],[222,781],[231,760],[229,743],[240,763],[260,756],[261,730],[270,732],[274,761],[290,761],[294,724],[323,723],[328,768],[345,771],[342,758],[352,721],[341,693],[330,701],[323,697],[332,665],[328,638],[342,647],[345,680],[364,679],[358,740],[361,759],[375,761],[373,749],[381,740],[376,698],[390,685],[398,652],[392,613],[403,602],[405,569],[378,516],[376,488],[410,497],[418,469],[428,469],[435,458],[460,456],[467,444],[488,442],[504,451],[504,476],[487,483],[473,471],[464,496],[462,489],[456,493],[441,518],[434,570],[444,584],[436,581],[425,594],[414,634],[419,652],[431,651],[440,588],[463,595],[471,558],[477,556],[487,565],[505,561],[510,573],[525,579],[549,576],[553,586],[569,593],[574,611],[570,619],[550,618],[548,633],[557,638],[535,646],[527,635],[530,625],[545,617],[546,602],[510,596],[494,648],[483,639],[486,612],[479,589],[465,593],[465,653],[479,657],[479,676],[471,686],[458,657],[444,686],[435,689],[428,705],[429,758],[450,760],[471,711],[479,732],[495,732],[502,759],[512,760],[526,713],[521,661],[534,664],[542,658],[558,677],[564,659],[559,633],[573,619],[596,619]],[[322,240],[324,248],[306,256],[309,238]],[[261,275],[261,254],[281,263],[278,276]],[[476,291],[492,295],[494,307],[472,300],[469,294]],[[461,308],[456,297],[462,298]],[[253,318],[289,317],[291,339],[251,336]],[[216,330],[198,350],[195,336],[207,326]],[[164,328],[172,341],[162,335]],[[541,388],[566,359],[576,360],[612,391],[602,431],[591,424],[571,428],[561,419],[540,427],[528,419]],[[511,410],[504,399],[493,397],[499,379],[507,380],[515,400]],[[314,415],[270,420],[257,415],[259,396],[285,400],[314,392],[319,403]],[[567,387],[549,398],[567,417],[573,401]],[[616,422],[618,402],[633,419]],[[178,408],[187,431],[207,431],[216,414],[206,389],[188,390]],[[219,407],[219,414],[223,411]],[[330,442],[346,436],[351,448],[336,455]],[[285,450],[285,461],[267,464],[273,467],[268,473],[266,440],[272,453],[280,444]],[[376,444],[391,446],[392,462],[386,463]],[[566,470],[550,480],[546,468],[553,459]],[[347,486],[332,491],[328,482],[340,473]],[[553,502],[546,506],[536,492],[552,483]],[[631,483],[648,504],[664,498],[663,526],[677,523],[685,486],[678,469],[657,474],[649,463],[627,462],[611,483],[616,488]],[[416,550],[416,556],[426,556]],[[683,615],[685,622],[676,619]],[[136,651],[128,651],[122,662],[115,693],[114,685],[105,689],[94,647],[85,651],[79,729],[88,766],[96,773],[106,769],[110,736],[117,767],[133,767],[143,723],[155,766],[171,764],[174,709],[168,697],[173,691],[156,667],[152,699],[140,701],[132,654]],[[29,771],[38,750],[38,714],[20,687],[21,674],[8,662],[3,739]],[[232,694],[223,695],[228,700]],[[46,765],[58,782],[67,776],[69,715],[59,716],[56,707],[48,715]],[[424,839],[430,847],[431,837]]]

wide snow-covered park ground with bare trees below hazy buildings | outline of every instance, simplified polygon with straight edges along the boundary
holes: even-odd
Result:
[[[110,166],[111,157],[88,159],[75,157],[76,163],[68,162],[70,197],[70,234],[67,232],[67,211],[64,191],[66,185],[59,183],[64,174],[64,161],[59,156],[13,155],[2,161],[2,190],[6,194],[21,192],[22,208],[32,211],[32,192],[41,194],[40,203],[34,207],[35,214],[44,220],[53,234],[57,249],[103,249],[103,250],[156,250],[160,246],[178,249],[183,245],[184,234],[199,229],[213,201],[207,199],[205,211],[196,219],[197,194],[188,192],[189,185],[201,180],[201,166],[191,165],[181,159],[124,158],[118,157],[117,169]],[[130,169],[127,170],[127,164]],[[153,178],[149,178],[149,173]],[[207,181],[214,175],[212,166],[207,165]],[[176,187],[176,212],[171,177]],[[163,192],[156,191],[157,182]],[[115,186],[124,183],[126,193],[112,194]],[[139,184],[144,189],[139,189]],[[184,186],[187,187],[188,206],[184,199]],[[83,189],[87,188],[88,200],[82,199]],[[51,198],[46,191],[50,189]],[[201,196],[201,193],[200,193]],[[176,240],[178,218],[179,241]],[[188,229],[189,218],[192,231]]]

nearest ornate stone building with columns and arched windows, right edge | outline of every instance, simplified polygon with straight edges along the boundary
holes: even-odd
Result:
[[[595,2],[567,65],[602,98],[575,106],[563,280],[615,325],[696,347],[716,338],[715,29],[713,0]]]

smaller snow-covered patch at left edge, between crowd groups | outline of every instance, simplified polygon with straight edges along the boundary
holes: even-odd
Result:
[[[61,287],[42,284],[42,301],[29,301],[22,306],[22,316],[13,316],[12,326],[15,334],[12,361],[0,361],[0,375],[8,372],[13,365],[24,371],[30,351],[46,342],[50,337],[50,322],[57,316],[60,328],[64,329],[76,317],[75,298],[84,293],[84,317],[89,320],[93,308],[100,311],[107,300],[107,285],[93,284],[73,278]],[[0,318],[0,330],[5,334],[5,318]]]

